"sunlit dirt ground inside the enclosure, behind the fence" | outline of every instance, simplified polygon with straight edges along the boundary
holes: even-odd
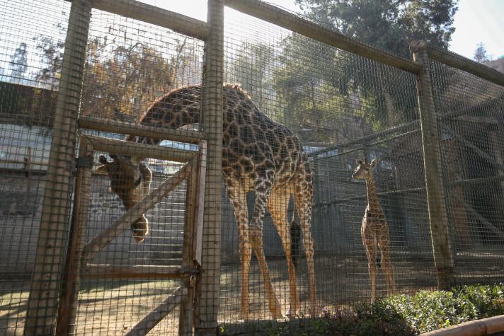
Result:
[[[459,261],[457,278],[463,282],[493,282],[502,278],[503,255],[487,255],[484,265],[481,255],[463,255]],[[393,257],[399,293],[413,293],[420,289],[435,289],[432,260],[397,255]],[[285,260],[268,260],[275,293],[282,309],[289,308],[289,286]],[[464,268],[462,268],[464,267]],[[220,289],[220,323],[235,323],[239,316],[239,263],[222,266]],[[485,270],[482,272],[481,270]],[[316,257],[317,296],[321,311],[345,308],[353,303],[369,301],[370,285],[367,262],[363,256]],[[470,275],[468,275],[470,274]],[[297,270],[297,284],[302,301],[302,313],[307,313],[307,268],[301,260]],[[386,295],[383,274],[379,272],[379,295]],[[76,335],[125,335],[178,286],[176,281],[109,281],[83,282],[79,294]],[[0,281],[0,335],[22,335],[30,282]],[[257,262],[253,260],[250,279],[250,310],[253,319],[270,319],[265,304],[265,291]],[[149,335],[177,335],[178,311],[171,312]]]

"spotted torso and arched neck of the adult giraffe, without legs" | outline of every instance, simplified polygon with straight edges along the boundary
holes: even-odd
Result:
[[[176,129],[200,123],[201,87],[176,88],[156,100],[140,122]],[[236,85],[224,85],[224,178],[241,180],[247,191],[262,173],[273,173],[275,187],[291,183],[301,173],[311,185],[311,170],[299,139],[287,127],[264,115],[250,95]],[[130,141],[159,144],[160,139],[128,137]]]

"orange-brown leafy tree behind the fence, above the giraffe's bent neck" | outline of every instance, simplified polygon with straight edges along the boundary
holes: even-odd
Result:
[[[108,33],[88,40],[84,67],[82,112],[100,117],[128,119],[138,115],[159,95],[175,87],[193,62],[194,50],[186,39],[170,41],[166,49],[132,42],[124,27],[110,26]],[[62,69],[64,41],[40,36],[38,81],[57,88]],[[162,50],[162,51],[161,51]],[[167,55],[168,54],[168,55]]]

